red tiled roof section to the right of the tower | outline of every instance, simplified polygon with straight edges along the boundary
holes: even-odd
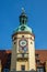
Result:
[[[36,50],[35,53],[39,54],[38,59],[40,60],[42,63],[47,61],[47,50]]]

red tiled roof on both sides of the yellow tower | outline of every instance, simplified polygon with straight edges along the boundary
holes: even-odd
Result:
[[[2,68],[5,66],[7,61],[9,61],[11,55],[11,50],[0,50],[0,60]],[[38,58],[36,60],[40,61],[40,65],[43,65],[47,61],[47,50],[35,50],[35,53],[38,54]]]

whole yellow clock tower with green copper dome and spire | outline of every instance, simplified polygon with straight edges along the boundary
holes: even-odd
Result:
[[[27,27],[27,16],[22,9],[20,25],[12,34],[11,71],[36,71],[35,37]]]

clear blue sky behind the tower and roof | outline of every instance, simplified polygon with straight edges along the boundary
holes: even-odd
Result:
[[[35,34],[35,48],[47,49],[47,0],[0,0],[0,50],[12,48],[11,35],[20,24],[22,7]]]

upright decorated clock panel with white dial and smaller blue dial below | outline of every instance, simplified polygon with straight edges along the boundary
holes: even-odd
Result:
[[[20,48],[19,48],[20,52],[26,52],[27,51],[27,40],[26,39],[21,39],[19,41],[19,45],[20,45]]]

